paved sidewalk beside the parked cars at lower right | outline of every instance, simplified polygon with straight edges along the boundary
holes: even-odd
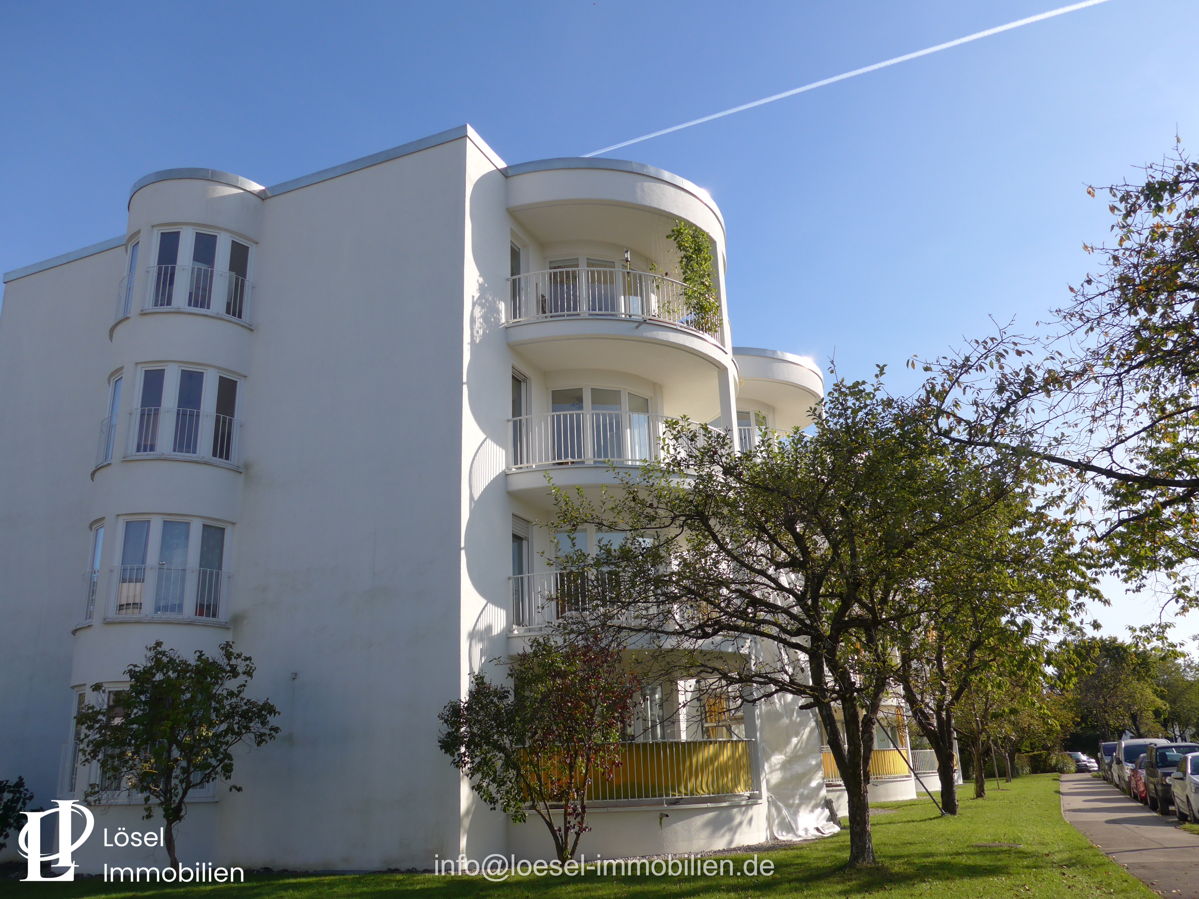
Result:
[[[1090,774],[1061,776],[1061,814],[1084,837],[1165,897],[1199,899],[1199,837]]]

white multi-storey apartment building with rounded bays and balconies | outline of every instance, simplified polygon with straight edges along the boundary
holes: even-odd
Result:
[[[711,236],[718,322],[669,277],[680,219]],[[549,857],[538,820],[487,809],[438,750],[438,712],[546,623],[547,473],[610,484],[608,460],[638,465],[681,415],[742,444],[807,423],[819,368],[735,348],[724,274],[724,221],[691,182],[507,165],[469,126],[273,187],[138,181],[125,234],[4,277],[0,778],[37,804],[82,797],[90,684],[119,688],[157,639],[231,639],[282,734],[239,758],[245,792],[193,803],[181,861]],[[811,712],[722,718],[687,711],[688,689],[643,696],[589,856],[827,821]],[[100,811],[97,832],[150,825],[140,804]],[[138,861],[96,839],[76,859]]]

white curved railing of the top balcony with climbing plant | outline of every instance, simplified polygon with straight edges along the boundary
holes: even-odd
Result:
[[[508,278],[508,324],[536,319],[652,319],[721,340],[719,315],[688,308],[687,285],[623,269],[552,269]]]

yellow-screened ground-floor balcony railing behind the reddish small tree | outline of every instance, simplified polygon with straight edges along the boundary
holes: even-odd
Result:
[[[753,740],[621,743],[611,780],[596,777],[588,798],[619,802],[752,792],[754,746]]]

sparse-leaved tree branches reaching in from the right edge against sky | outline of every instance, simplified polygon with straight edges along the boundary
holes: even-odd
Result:
[[[1093,188],[1087,188],[1091,197]],[[1040,336],[1001,327],[924,364],[947,439],[1052,463],[1097,500],[1095,536],[1135,587],[1197,602],[1199,163],[1181,149],[1107,189],[1114,243]]]

